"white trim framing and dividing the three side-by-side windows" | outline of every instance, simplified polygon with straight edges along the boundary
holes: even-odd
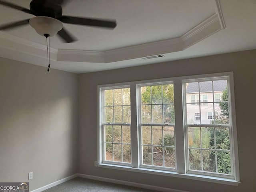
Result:
[[[220,178],[220,177],[214,177],[214,176],[206,176],[206,175],[200,175],[200,174],[191,174],[186,173],[186,166],[185,166],[185,151],[184,151],[184,145],[185,143],[182,141],[176,140],[176,150],[179,148],[179,152],[176,153],[177,158],[179,159],[177,162],[180,162],[180,164],[176,164],[177,172],[171,172],[171,171],[163,171],[163,170],[152,170],[152,169],[146,169],[146,168],[139,168],[140,161],[139,161],[139,150],[140,145],[138,143],[132,144],[132,167],[129,166],[121,166],[121,165],[114,165],[114,164],[103,164],[102,163],[102,129],[100,128],[100,125],[102,124],[102,114],[100,113],[100,110],[102,109],[102,101],[101,98],[101,88],[106,87],[113,87],[113,86],[124,86],[124,85],[130,85],[131,89],[131,139],[132,140],[138,140],[139,138],[139,127],[138,127],[138,118],[137,118],[137,106],[139,100],[138,98],[138,91],[137,91],[137,85],[138,84],[159,84],[162,82],[162,84],[165,84],[165,82],[174,82],[174,108],[177,113],[182,114],[178,116],[178,114],[175,113],[175,124],[176,124],[176,137],[184,136],[184,120],[183,116],[186,114],[186,111],[183,109],[183,97],[182,94],[184,94],[184,87],[182,90],[182,80],[189,80],[193,79],[198,80],[204,78],[204,81],[209,81],[211,78],[214,77],[227,77],[230,78],[229,85],[229,98],[230,98],[230,112],[232,114],[232,118],[230,118],[230,121],[232,121],[232,133],[233,134],[233,140],[230,140],[230,144],[233,146],[234,149],[232,152],[232,155],[235,157],[232,159],[232,163],[234,165],[234,179],[230,178]],[[185,98],[185,97],[184,97]],[[217,74],[203,74],[203,75],[195,75],[195,76],[182,76],[182,77],[175,77],[175,78],[164,78],[164,79],[156,79],[156,80],[144,80],[144,81],[138,81],[138,82],[126,82],[126,83],[117,83],[117,84],[108,84],[108,85],[99,85],[98,86],[98,159],[97,159],[97,166],[98,167],[104,167],[104,168],[113,168],[113,169],[119,169],[119,170],[127,170],[127,171],[134,171],[134,172],[144,172],[148,174],[157,174],[157,175],[164,175],[164,176],[171,176],[171,177],[179,177],[179,178],[189,178],[194,180],[201,180],[201,181],[207,181],[207,182],[215,182],[215,183],[221,183],[221,184],[229,184],[229,185],[238,185],[240,183],[240,176],[239,176],[239,164],[238,164],[238,141],[237,141],[237,130],[236,130],[236,112],[235,112],[235,101],[234,101],[234,79],[233,79],[233,72],[224,72],[224,73],[217,73]],[[183,164],[182,164],[183,163]]]

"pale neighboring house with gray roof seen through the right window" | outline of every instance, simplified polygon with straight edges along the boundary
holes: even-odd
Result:
[[[200,86],[198,83],[187,83],[186,102],[188,123],[210,124],[214,120],[214,116],[215,119],[218,119],[221,114],[218,102],[221,102],[222,92],[226,89],[226,86],[226,80],[214,81],[214,83],[212,81],[200,82]],[[200,105],[199,102],[201,103]]]

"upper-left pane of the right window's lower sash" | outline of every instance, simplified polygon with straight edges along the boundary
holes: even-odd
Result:
[[[201,148],[200,127],[188,127],[188,147]]]

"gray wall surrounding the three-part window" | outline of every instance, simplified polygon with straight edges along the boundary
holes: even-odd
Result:
[[[189,179],[156,176],[94,167],[97,160],[97,85],[155,78],[168,78],[217,72],[234,72],[239,186],[214,184]],[[191,192],[256,191],[256,50],[221,54],[132,68],[79,74],[79,152],[78,170],[82,174],[114,178]]]

